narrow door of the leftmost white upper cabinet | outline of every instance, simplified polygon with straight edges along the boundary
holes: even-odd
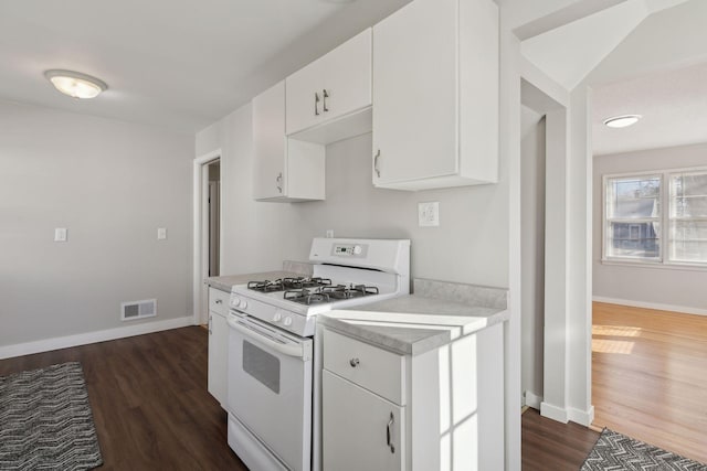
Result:
[[[285,175],[285,83],[253,98],[253,197],[287,193]]]

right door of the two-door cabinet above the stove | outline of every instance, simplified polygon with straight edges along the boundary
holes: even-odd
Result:
[[[371,106],[371,29],[351,38],[324,57],[325,120]],[[323,101],[324,105],[324,101]]]

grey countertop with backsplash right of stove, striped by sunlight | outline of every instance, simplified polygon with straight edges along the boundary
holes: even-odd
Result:
[[[420,281],[426,283],[426,280]],[[435,283],[435,288],[446,286]],[[495,288],[451,283],[455,299],[447,300],[431,296],[430,290],[424,289],[429,286],[415,290],[421,291],[416,295],[329,311],[319,314],[317,322],[386,350],[414,356],[508,320],[508,310],[497,302],[493,307],[478,306],[478,289],[488,292]],[[449,291],[437,289],[435,296]],[[461,301],[464,296],[460,292],[468,293],[469,301],[476,303]]]

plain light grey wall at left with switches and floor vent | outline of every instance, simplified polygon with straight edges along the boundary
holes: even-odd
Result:
[[[191,314],[191,136],[9,101],[0,129],[0,346]]]

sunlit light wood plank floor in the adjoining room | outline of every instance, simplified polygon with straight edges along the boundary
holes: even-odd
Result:
[[[595,302],[599,427],[707,463],[707,317]]]

